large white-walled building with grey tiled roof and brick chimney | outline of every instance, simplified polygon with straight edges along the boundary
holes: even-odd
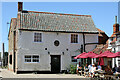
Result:
[[[61,72],[98,44],[90,15],[25,11],[22,4],[18,2],[17,18],[10,23],[9,70]]]

